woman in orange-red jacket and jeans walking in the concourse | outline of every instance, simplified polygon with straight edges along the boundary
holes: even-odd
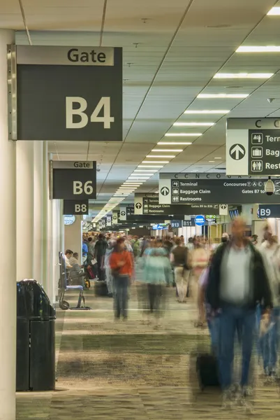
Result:
[[[133,272],[131,252],[126,250],[124,238],[117,239],[117,244],[110,257],[113,276],[115,319],[127,318],[128,286]]]

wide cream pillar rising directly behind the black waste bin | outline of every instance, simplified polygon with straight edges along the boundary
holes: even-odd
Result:
[[[17,141],[17,281],[33,278],[34,142]],[[14,252],[15,253],[15,252]]]

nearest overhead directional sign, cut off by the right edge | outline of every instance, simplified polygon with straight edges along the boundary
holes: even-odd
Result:
[[[280,175],[280,118],[228,118],[226,173]]]

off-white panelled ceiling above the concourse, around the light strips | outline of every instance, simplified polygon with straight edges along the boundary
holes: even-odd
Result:
[[[193,144],[161,171],[205,172],[225,167],[228,116],[280,116],[280,54],[235,52],[241,44],[280,44],[280,16],[267,16],[270,8],[280,6],[280,1],[22,0],[22,6],[34,45],[95,46],[102,41],[104,46],[124,49],[124,141],[49,142],[54,159],[96,160],[96,210],[103,207],[166,132],[185,132],[187,128],[187,132],[204,134],[189,139],[165,137],[166,141]],[[0,0],[0,20],[1,28],[17,29],[17,43],[28,43],[18,0]],[[218,71],[275,75],[269,80],[213,79]],[[245,100],[197,99],[200,92],[250,96]],[[267,98],[276,99],[269,104]],[[227,116],[182,115],[186,109],[232,111]],[[172,127],[175,121],[216,125]],[[209,162],[216,157],[221,160]],[[156,174],[139,192],[156,190],[158,179]]]

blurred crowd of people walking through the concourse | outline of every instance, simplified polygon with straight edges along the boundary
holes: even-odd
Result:
[[[133,282],[142,322],[154,328],[161,325],[168,287],[176,288],[179,303],[192,302],[197,309],[195,326],[209,328],[212,353],[219,360],[224,405],[237,393],[242,398],[249,395],[249,367],[256,341],[265,375],[277,377],[280,246],[268,225],[261,240],[245,234],[246,224],[236,218],[230,235],[224,232],[214,244],[199,236],[185,244],[184,237],[101,233],[84,238],[82,248],[84,273],[106,282],[108,296],[114,298],[116,320],[128,317],[128,293]],[[71,258],[69,262],[73,264]],[[235,336],[242,348],[239,386],[233,386],[232,379]]]

